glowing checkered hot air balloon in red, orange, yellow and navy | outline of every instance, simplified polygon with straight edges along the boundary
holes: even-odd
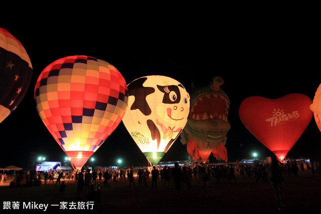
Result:
[[[69,56],[42,71],[35,101],[45,126],[73,167],[79,168],[120,123],[128,91],[122,75],[109,63]]]

